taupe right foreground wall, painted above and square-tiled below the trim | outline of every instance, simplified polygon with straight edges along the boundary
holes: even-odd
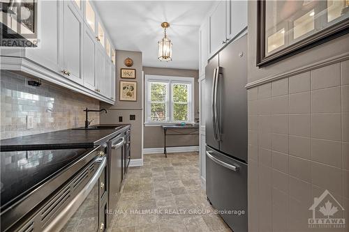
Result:
[[[311,67],[348,59],[349,35],[258,68],[256,12],[248,1],[248,82],[280,79],[248,89],[249,231],[316,230],[308,229],[309,207],[325,190],[346,209],[348,222],[349,61]]]

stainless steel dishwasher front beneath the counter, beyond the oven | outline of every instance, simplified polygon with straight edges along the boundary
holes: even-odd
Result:
[[[124,153],[125,135],[121,133],[108,141],[108,173],[109,173],[109,209],[114,210],[119,199],[122,178],[122,157]]]

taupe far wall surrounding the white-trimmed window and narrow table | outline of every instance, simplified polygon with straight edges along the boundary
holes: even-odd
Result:
[[[199,118],[199,86],[198,70],[185,70],[175,68],[151,68],[143,67],[144,75],[163,75],[174,77],[194,77],[194,109],[195,118]],[[144,148],[163,147],[163,130],[161,126],[144,126]],[[168,146],[198,146],[198,135],[172,136],[166,139]]]

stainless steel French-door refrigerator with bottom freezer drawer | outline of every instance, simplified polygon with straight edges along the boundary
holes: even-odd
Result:
[[[207,199],[232,210],[220,215],[233,231],[247,231],[247,35],[209,60],[205,73]]]

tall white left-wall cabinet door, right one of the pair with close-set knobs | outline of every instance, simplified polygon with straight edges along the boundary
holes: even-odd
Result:
[[[82,18],[73,2],[64,1],[63,72],[74,82],[82,84]]]

